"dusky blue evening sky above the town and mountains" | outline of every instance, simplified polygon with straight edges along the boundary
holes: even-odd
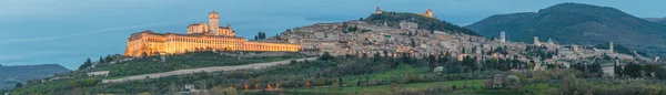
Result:
[[[220,13],[236,35],[269,35],[321,22],[385,11],[425,12],[467,25],[493,14],[536,12],[577,2],[617,8],[639,18],[666,17],[666,0],[0,0],[0,64],[60,64],[75,70],[91,57],[122,54],[131,33],[186,33]]]

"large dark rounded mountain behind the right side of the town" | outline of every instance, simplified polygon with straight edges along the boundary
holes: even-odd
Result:
[[[538,12],[492,15],[465,28],[490,38],[506,31],[509,41],[532,43],[534,36],[563,44],[613,41],[648,55],[666,55],[666,25],[609,7],[561,3]]]

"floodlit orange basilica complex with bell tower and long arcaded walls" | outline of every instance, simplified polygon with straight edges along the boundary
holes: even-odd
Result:
[[[128,38],[124,55],[169,55],[195,51],[254,51],[254,52],[297,52],[299,44],[283,42],[246,41],[235,36],[235,31],[226,24],[219,27],[218,12],[209,13],[209,23],[188,27],[188,34],[154,33],[147,30]]]

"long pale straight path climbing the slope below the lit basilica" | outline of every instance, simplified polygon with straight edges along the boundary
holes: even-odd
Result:
[[[295,59],[297,62],[301,61],[314,61],[316,57],[305,57],[305,59]],[[246,68],[262,68],[268,66],[275,66],[279,64],[289,64],[291,60],[286,61],[278,61],[278,62],[265,62],[265,63],[254,63],[248,65],[236,65],[236,66],[212,66],[212,67],[200,67],[200,68],[188,68],[188,70],[178,70],[171,72],[162,72],[162,73],[152,73],[152,74],[143,74],[143,75],[133,75],[127,76],[117,80],[102,80],[102,83],[118,83],[118,82],[128,82],[128,81],[137,81],[144,78],[158,78],[171,75],[183,75],[183,74],[194,74],[201,72],[218,72],[218,71],[234,71],[234,70],[246,70]],[[111,72],[113,73],[113,72]]]

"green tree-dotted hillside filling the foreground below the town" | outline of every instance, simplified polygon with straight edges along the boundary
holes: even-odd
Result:
[[[206,53],[203,53],[206,54]],[[666,70],[658,65],[628,64],[618,78],[598,77],[598,64],[589,71],[582,65],[573,68],[548,65],[545,71],[522,71],[528,63],[512,59],[477,57],[457,61],[452,55],[383,57],[367,55],[322,55],[315,61],[292,61],[290,64],[265,68],[229,72],[196,73],[188,75],[109,83],[104,77],[71,75],[70,78],[29,84],[12,91],[18,95],[83,95],[83,94],[168,94],[200,95],[185,85],[205,88],[209,95],[545,95],[545,94],[602,94],[602,95],[663,95]],[[176,55],[178,56],[178,55]],[[184,56],[181,56],[184,57]],[[221,57],[225,59],[225,57]],[[436,65],[443,70],[434,72]],[[125,66],[127,67],[127,66]],[[642,70],[645,68],[645,70]],[[511,72],[509,71],[514,71]],[[655,72],[642,76],[636,72]],[[503,76],[501,87],[493,87],[494,76]],[[654,80],[623,80],[623,78]],[[276,88],[276,89],[269,89]]]

